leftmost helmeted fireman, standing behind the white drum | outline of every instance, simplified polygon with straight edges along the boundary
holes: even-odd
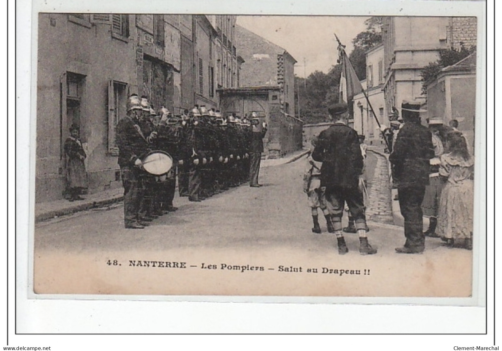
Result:
[[[127,101],[127,115],[118,121],[116,128],[118,164],[124,188],[124,226],[128,229],[143,229],[146,224],[140,219],[141,175],[144,173],[142,158],[149,151],[147,137],[150,135],[140,126],[142,113],[138,95],[131,95]]]

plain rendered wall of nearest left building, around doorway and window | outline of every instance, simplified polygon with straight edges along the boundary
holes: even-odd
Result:
[[[92,16],[92,15],[90,15]],[[137,91],[134,43],[112,37],[110,24],[66,14],[39,15],[37,70],[36,202],[62,197],[65,188],[62,143],[69,135],[67,72],[80,75],[80,136],[87,153],[89,191],[119,186],[116,156],[108,152],[108,84]],[[129,16],[130,38],[135,16]],[[57,48],[57,50],[55,50]],[[116,65],[117,59],[123,64]]]

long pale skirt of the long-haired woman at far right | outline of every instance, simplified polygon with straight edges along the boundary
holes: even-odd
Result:
[[[473,228],[474,182],[447,183],[441,192],[436,233],[448,239],[469,239]]]

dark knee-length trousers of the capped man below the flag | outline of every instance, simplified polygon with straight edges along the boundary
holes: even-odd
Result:
[[[347,203],[351,217],[354,219],[356,229],[366,228],[366,216],[364,214],[364,203],[362,194],[358,187],[326,187],[326,205],[331,215],[333,228],[342,229],[343,208]]]

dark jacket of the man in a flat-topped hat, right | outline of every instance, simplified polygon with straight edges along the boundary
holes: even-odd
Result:
[[[389,160],[393,164],[396,187],[418,187],[429,184],[429,160],[434,146],[429,129],[419,122],[406,122],[399,130]]]

